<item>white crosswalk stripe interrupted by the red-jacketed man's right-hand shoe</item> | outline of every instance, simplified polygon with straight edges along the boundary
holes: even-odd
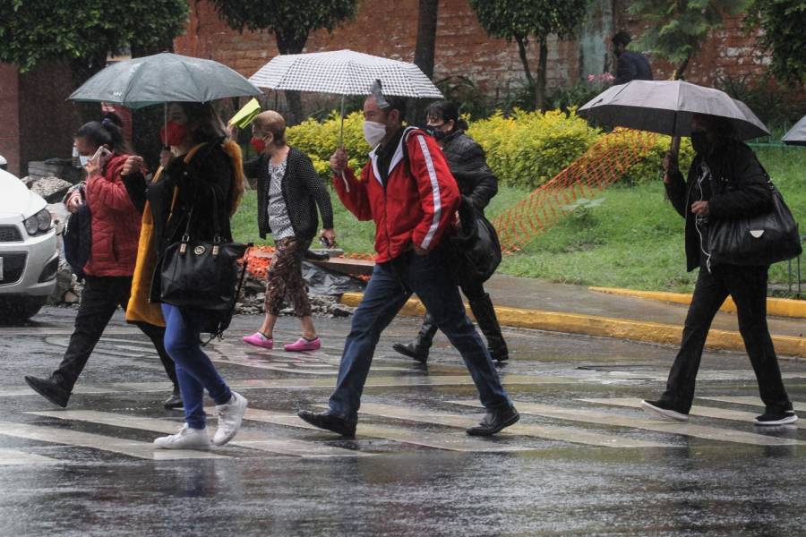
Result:
[[[446,427],[457,427],[467,429],[478,424],[479,416],[468,416],[466,414],[435,413],[404,408],[394,405],[379,405],[364,403],[361,405],[361,413],[407,420],[410,422],[434,423]],[[673,447],[671,444],[660,442],[648,442],[638,439],[627,439],[613,435],[591,432],[588,430],[572,430],[565,427],[543,426],[534,424],[515,424],[499,433],[504,436],[519,435],[531,436],[542,439],[561,440],[574,444],[586,444],[589,446],[602,447]]]

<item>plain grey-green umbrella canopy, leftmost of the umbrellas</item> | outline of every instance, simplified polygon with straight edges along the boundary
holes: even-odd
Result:
[[[84,82],[68,99],[141,108],[260,94],[261,90],[226,65],[162,53],[111,64]]]

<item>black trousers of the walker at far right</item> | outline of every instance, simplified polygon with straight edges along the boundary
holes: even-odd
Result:
[[[761,400],[769,412],[792,409],[767,328],[767,267],[717,265],[711,270],[708,273],[705,268],[699,269],[680,352],[674,359],[661,401],[679,412],[689,413],[711,321],[730,294],[736,303],[739,332],[759,381]]]

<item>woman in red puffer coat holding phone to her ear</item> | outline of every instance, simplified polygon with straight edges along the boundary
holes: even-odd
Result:
[[[141,226],[141,213],[129,198],[122,177],[124,167],[139,170],[141,158],[130,156],[132,151],[119,125],[109,117],[84,124],[75,134],[75,147],[87,171],[87,182],[83,194],[77,189],[67,197],[66,205],[75,213],[86,203],[91,217],[90,258],[82,268],[85,283],[81,307],[58,369],[48,379],[25,377],[30,388],[62,407],[67,406],[75,382],[117,307],[126,309]],[[174,383],[174,393],[165,402],[166,407],[181,406],[175,365],[163,343],[165,328],[146,323],[137,326],[154,343]]]

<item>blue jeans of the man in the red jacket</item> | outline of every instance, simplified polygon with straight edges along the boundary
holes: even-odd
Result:
[[[467,319],[459,287],[443,265],[439,249],[425,256],[413,252],[375,265],[350,326],[339,365],[336,391],[330,396],[330,411],[347,422],[357,422],[361,393],[373,362],[375,345],[412,293],[423,301],[442,330],[462,355],[487,410],[498,411],[512,404],[501,385],[498,371],[473,323]]]

